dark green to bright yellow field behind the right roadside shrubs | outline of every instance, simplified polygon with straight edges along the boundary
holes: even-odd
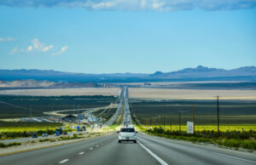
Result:
[[[163,127],[186,130],[187,122],[193,122],[195,108],[196,130],[217,130],[217,104],[210,100],[138,101],[131,100],[131,114],[146,128]],[[219,101],[219,122],[222,131],[256,130],[255,101]]]

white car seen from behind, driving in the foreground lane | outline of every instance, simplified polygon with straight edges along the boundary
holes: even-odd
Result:
[[[120,128],[119,133],[119,143],[122,141],[133,141],[137,143],[137,131],[134,128]]]

